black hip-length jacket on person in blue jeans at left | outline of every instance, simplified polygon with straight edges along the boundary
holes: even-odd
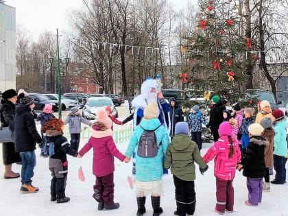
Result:
[[[29,106],[17,104],[14,118],[15,151],[30,152],[36,149],[36,143],[41,143],[34,115]]]

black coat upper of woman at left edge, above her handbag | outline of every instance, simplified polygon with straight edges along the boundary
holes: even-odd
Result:
[[[15,105],[5,99],[1,99],[1,126],[9,127],[11,131],[14,131],[14,115]]]

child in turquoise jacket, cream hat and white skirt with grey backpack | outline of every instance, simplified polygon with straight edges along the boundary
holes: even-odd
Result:
[[[151,193],[152,207],[154,216],[163,213],[160,207],[160,195],[163,194],[163,159],[169,144],[169,134],[165,127],[161,125],[159,109],[156,102],[150,102],[143,112],[141,123],[134,130],[125,156],[130,158],[136,149],[136,200],[138,205],[137,215],[143,215],[146,212],[146,196]],[[145,131],[154,131],[158,152],[154,157],[139,156],[139,141]],[[141,151],[142,152],[142,151]]]

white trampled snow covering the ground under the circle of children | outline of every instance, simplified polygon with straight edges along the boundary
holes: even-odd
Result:
[[[80,147],[84,145],[82,140]],[[1,144],[0,144],[1,145]],[[118,149],[125,153],[128,142],[117,143]],[[204,155],[212,143],[204,143],[201,154]],[[39,187],[38,193],[23,194],[20,191],[20,178],[5,180],[0,178],[0,216],[21,215],[136,215],[136,197],[134,191],[129,187],[127,177],[132,170],[132,162],[125,164],[115,158],[115,202],[120,203],[120,208],[112,211],[97,211],[97,202],[93,199],[93,184],[95,176],[92,174],[93,150],[88,152],[83,158],[73,158],[68,156],[69,175],[67,180],[66,195],[71,197],[71,201],[64,204],[50,202],[50,171],[48,169],[49,158],[40,157],[40,149],[36,149],[37,165],[34,169],[33,185]],[[208,164],[209,169],[201,175],[196,165],[196,210],[194,215],[218,215],[214,212],[215,207],[215,177],[213,176],[213,161]],[[86,180],[81,182],[78,179],[78,169],[82,166]],[[13,165],[13,170],[21,172],[21,165]],[[3,162],[0,162],[0,173],[3,173]],[[274,176],[270,176],[273,180]],[[171,174],[163,176],[165,195],[161,197],[163,216],[173,215],[176,210],[174,196],[174,185]],[[235,187],[235,206],[234,213],[226,215],[279,215],[288,216],[288,184],[271,185],[270,193],[263,192],[263,200],[259,206],[245,206],[244,201],[248,199],[248,190],[245,178],[242,173],[237,171],[234,180]],[[152,215],[151,200],[147,197],[147,213]]]

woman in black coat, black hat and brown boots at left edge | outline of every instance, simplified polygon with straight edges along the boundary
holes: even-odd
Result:
[[[2,93],[1,99],[1,125],[14,131],[14,112],[17,100],[17,93],[14,89],[8,89]],[[14,143],[3,143],[2,145],[3,163],[5,165],[4,178],[19,178],[19,173],[12,171],[12,163],[21,161],[19,152],[15,152]]]

